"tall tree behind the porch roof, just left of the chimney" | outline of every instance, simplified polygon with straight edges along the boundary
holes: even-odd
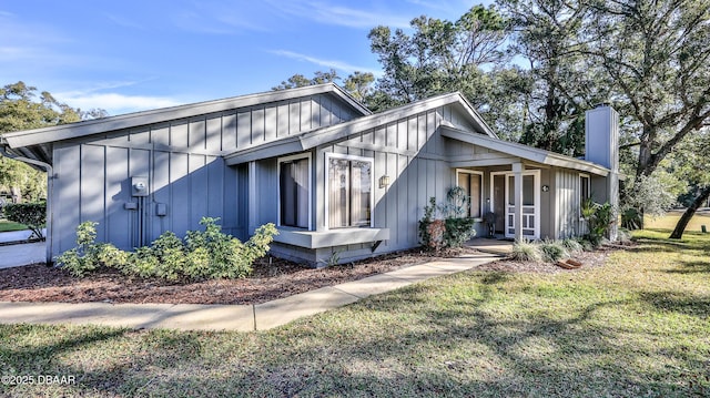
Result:
[[[513,25],[510,51],[529,63],[534,81],[520,141],[582,155],[585,111],[608,95],[584,57],[582,27],[589,8],[566,0],[500,0],[499,4]]]

